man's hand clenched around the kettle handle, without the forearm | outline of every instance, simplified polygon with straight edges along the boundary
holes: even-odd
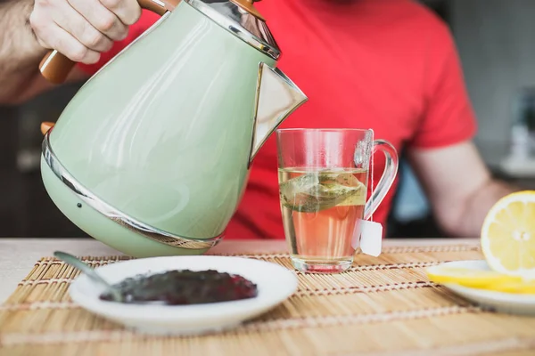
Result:
[[[136,0],[35,0],[29,23],[43,47],[92,64],[140,15]]]

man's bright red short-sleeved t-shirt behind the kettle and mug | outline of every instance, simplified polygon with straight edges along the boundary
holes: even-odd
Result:
[[[476,122],[449,28],[409,0],[265,0],[255,6],[281,47],[278,67],[309,101],[281,127],[373,128],[374,138],[432,149],[473,137]],[[149,28],[144,11],[129,36],[80,66],[95,73]],[[383,173],[375,155],[374,185]],[[374,221],[385,223],[394,184]],[[369,190],[368,190],[369,197]],[[284,239],[279,207],[276,140],[259,150],[228,239]]]

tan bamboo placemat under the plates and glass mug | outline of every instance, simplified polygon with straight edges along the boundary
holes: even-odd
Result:
[[[245,256],[292,268],[284,253]],[[161,337],[80,309],[68,295],[78,271],[45,257],[0,306],[0,355],[535,355],[535,318],[483,311],[424,274],[480,258],[476,245],[385,248],[376,258],[357,255],[342,274],[299,273],[295,295],[240,328]]]

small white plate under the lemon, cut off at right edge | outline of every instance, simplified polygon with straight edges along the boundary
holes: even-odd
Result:
[[[427,271],[432,273],[440,267],[490,271],[489,265],[484,260],[441,263],[440,265],[429,267]],[[535,295],[516,295],[513,293],[495,292],[491,290],[459,286],[454,283],[443,283],[442,285],[448,287],[453,292],[457,293],[457,295],[464,296],[473,303],[481,305],[484,309],[512,314],[535,315]]]

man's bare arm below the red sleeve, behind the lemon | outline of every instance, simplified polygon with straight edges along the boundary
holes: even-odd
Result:
[[[493,180],[472,142],[413,149],[408,158],[440,227],[457,237],[478,237],[490,207],[515,187]]]

